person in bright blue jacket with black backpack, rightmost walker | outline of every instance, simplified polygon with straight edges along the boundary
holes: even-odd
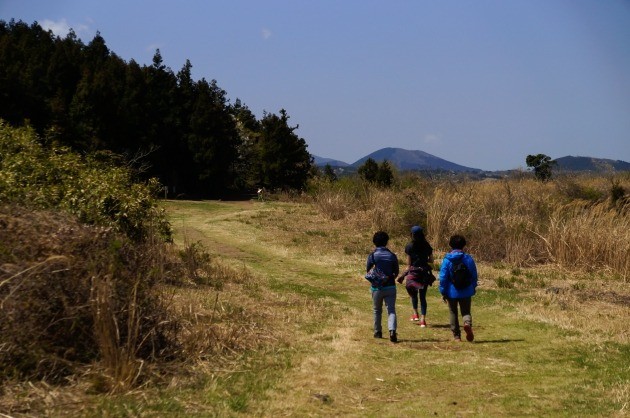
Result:
[[[451,317],[451,331],[455,341],[461,341],[459,329],[459,315],[457,306],[461,310],[464,320],[466,340],[475,339],[472,329],[471,298],[477,288],[477,266],[475,260],[464,252],[466,238],[453,235],[449,240],[451,252],[444,256],[440,267],[440,293],[448,303]]]

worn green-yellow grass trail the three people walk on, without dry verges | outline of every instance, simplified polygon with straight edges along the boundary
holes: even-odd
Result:
[[[168,202],[166,208],[179,243],[202,241],[211,254],[262,277],[261,309],[274,312],[273,329],[284,337],[273,349],[251,353],[238,373],[182,390],[173,406],[179,413],[627,413],[628,344],[590,343],[580,332],[535,321],[519,308],[517,291],[485,290],[481,278],[473,300],[476,341],[469,344],[451,341],[437,289],[429,290],[429,327],[421,329],[408,321],[399,287],[400,343],[391,344],[372,338],[371,302],[360,277],[364,255],[353,251],[370,250],[370,231],[348,231],[304,205]],[[401,254],[402,244],[392,247]],[[199,405],[196,412],[191,404]]]

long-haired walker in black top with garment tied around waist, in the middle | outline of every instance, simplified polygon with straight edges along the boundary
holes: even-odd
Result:
[[[419,321],[426,327],[427,289],[435,280],[429,263],[433,262],[433,247],[424,236],[420,226],[411,228],[411,241],[405,247],[407,254],[407,270],[398,278],[398,283],[405,279],[405,288],[411,298],[412,321]],[[418,315],[418,299],[420,299],[420,315]]]

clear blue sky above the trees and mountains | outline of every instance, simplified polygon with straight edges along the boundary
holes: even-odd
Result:
[[[285,109],[319,157],[630,162],[630,0],[0,0],[11,19],[188,59],[258,118]]]

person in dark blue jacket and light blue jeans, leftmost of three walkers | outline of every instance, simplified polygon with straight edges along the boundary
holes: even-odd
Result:
[[[376,246],[367,258],[365,278],[372,285],[372,307],[374,309],[374,338],[382,338],[383,330],[381,318],[383,316],[383,302],[387,307],[387,328],[389,340],[398,342],[396,335],[396,282],[398,276],[398,257],[387,248],[389,235],[378,231],[372,242]]]

